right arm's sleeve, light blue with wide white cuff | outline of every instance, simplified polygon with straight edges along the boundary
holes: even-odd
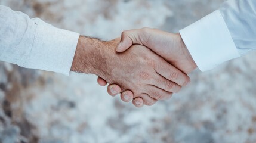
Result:
[[[226,1],[180,34],[201,71],[240,57],[256,49],[256,1]]]

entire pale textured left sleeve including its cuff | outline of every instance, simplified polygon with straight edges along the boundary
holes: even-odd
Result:
[[[69,75],[79,34],[0,5],[0,60]]]

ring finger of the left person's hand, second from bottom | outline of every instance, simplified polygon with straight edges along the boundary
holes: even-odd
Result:
[[[156,86],[149,85],[146,89],[146,94],[155,100],[168,100],[172,97],[172,92],[164,91]]]

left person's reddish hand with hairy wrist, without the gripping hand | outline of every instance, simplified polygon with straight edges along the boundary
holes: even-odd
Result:
[[[144,46],[132,45],[125,52],[116,52],[119,41],[104,42],[81,36],[71,70],[100,76],[104,79],[98,80],[101,85],[104,85],[101,82],[118,84],[114,89],[109,88],[109,92],[122,91],[124,99],[125,95],[133,94],[138,98],[134,104],[153,105],[189,83],[186,74]]]

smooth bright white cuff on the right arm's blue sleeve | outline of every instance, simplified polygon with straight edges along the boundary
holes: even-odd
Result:
[[[180,35],[201,71],[240,57],[219,10],[180,30]]]

